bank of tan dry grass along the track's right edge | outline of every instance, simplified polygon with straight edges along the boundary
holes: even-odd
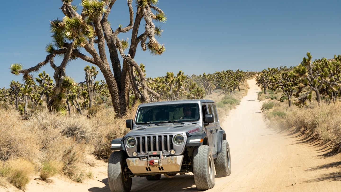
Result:
[[[279,105],[279,102],[275,104]],[[335,104],[322,102],[321,107],[317,106],[317,102],[312,102],[303,109],[295,105],[288,108],[286,105],[287,103],[281,103],[267,112],[271,127],[281,130],[295,128],[323,143],[331,141],[334,143],[334,149],[341,151],[340,101]]]

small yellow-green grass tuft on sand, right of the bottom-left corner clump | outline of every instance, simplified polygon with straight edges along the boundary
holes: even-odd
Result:
[[[47,160],[42,163],[40,170],[40,179],[46,181],[48,178],[55,176],[62,169],[61,162],[57,160]]]

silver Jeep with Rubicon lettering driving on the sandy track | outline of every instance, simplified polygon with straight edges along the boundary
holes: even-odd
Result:
[[[213,100],[162,101],[138,106],[131,131],[112,140],[108,181],[112,192],[130,191],[132,177],[158,180],[161,174],[194,174],[198,190],[214,186],[231,174],[231,156],[225,131]]]

